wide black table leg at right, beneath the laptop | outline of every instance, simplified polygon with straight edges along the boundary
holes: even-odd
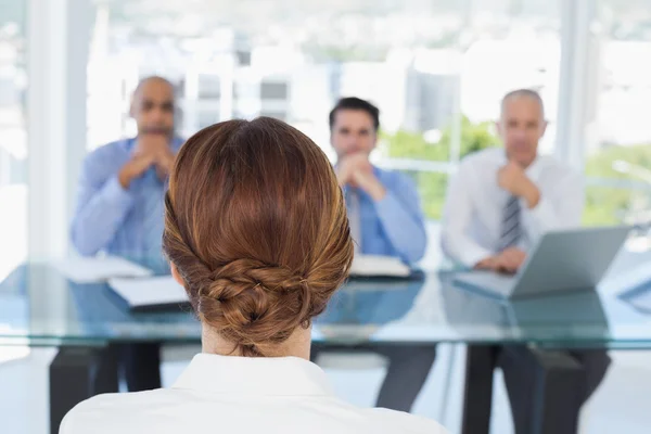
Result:
[[[533,434],[575,434],[583,367],[566,352],[529,349],[536,360]]]

